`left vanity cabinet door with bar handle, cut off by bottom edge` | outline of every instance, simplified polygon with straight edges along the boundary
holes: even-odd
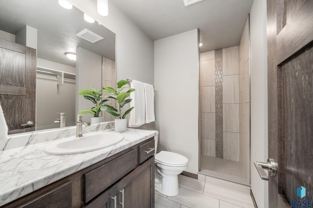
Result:
[[[116,186],[112,186],[107,191],[95,197],[90,203],[83,208],[115,208],[114,204],[117,203]]]

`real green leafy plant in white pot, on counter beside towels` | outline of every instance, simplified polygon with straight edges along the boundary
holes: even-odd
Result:
[[[105,111],[105,112],[110,113],[111,115],[117,117],[117,119],[115,119],[115,131],[116,132],[126,131],[127,119],[125,117],[128,113],[130,113],[134,109],[134,107],[132,107],[132,108],[128,109],[127,111],[125,111],[125,113],[122,115],[122,112],[121,112],[122,108],[127,103],[130,103],[132,101],[132,99],[128,98],[128,97],[131,95],[132,92],[135,91],[134,88],[130,88],[125,92],[124,89],[128,87],[125,85],[128,83],[129,83],[129,81],[124,80],[124,79],[118,81],[116,83],[118,91],[114,90],[112,87],[102,88],[102,90],[104,92],[109,93],[108,95],[104,95],[104,97],[113,98],[113,99],[117,100],[117,103],[118,103],[118,109],[115,109],[113,106],[110,106],[110,105],[102,105],[100,107],[100,109],[102,111]]]

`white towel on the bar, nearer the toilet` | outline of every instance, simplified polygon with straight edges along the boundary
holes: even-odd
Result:
[[[156,120],[155,117],[155,90],[153,85],[145,83],[146,124]]]

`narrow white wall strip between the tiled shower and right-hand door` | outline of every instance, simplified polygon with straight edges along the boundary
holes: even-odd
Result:
[[[265,0],[254,0],[250,11],[251,53],[251,189],[259,208],[268,207],[268,181],[253,162],[268,158],[267,12]]]

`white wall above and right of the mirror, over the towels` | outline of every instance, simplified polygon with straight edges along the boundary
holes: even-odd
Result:
[[[116,34],[116,80],[154,84],[154,42],[111,0],[109,15],[98,15],[96,0],[68,0]]]

